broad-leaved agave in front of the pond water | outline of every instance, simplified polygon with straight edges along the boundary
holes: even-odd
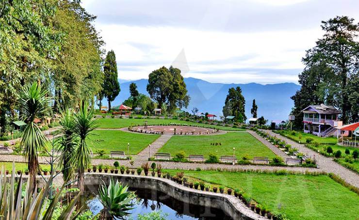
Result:
[[[128,211],[133,209],[135,204],[132,201],[136,195],[128,189],[128,186],[123,186],[118,181],[115,183],[112,178],[108,187],[105,183],[99,187],[98,195],[103,205],[103,210],[100,213],[101,219],[121,219],[130,214]]]

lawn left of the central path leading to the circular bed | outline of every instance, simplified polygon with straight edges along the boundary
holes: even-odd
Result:
[[[159,134],[140,134],[122,132],[118,130],[95,130],[91,135],[90,147],[93,152],[103,149],[107,154],[110,151],[125,151],[127,154],[127,143],[130,143],[130,154],[138,154],[149,144],[154,142]]]

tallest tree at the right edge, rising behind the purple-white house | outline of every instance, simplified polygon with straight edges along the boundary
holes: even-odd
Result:
[[[303,62],[306,69],[316,65],[326,65],[332,74],[319,84],[319,90],[327,91],[335,106],[342,110],[343,123],[358,120],[358,97],[350,96],[351,85],[358,75],[359,63],[359,24],[353,18],[336,16],[321,25],[325,32],[316,46],[309,49]],[[354,100],[350,100],[354,99]],[[354,103],[354,105],[353,105]]]

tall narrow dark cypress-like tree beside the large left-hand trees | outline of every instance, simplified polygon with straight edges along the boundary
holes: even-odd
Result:
[[[117,80],[117,64],[116,56],[113,50],[107,53],[105,64],[103,66],[103,73],[105,80],[103,82],[103,94],[109,103],[109,110],[111,109],[111,102],[120,93],[120,84]]]

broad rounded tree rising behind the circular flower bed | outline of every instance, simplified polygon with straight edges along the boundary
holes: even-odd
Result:
[[[163,103],[169,106],[169,111],[176,107],[187,108],[190,97],[187,95],[186,84],[178,68],[161,67],[148,75],[147,91],[158,106]]]

